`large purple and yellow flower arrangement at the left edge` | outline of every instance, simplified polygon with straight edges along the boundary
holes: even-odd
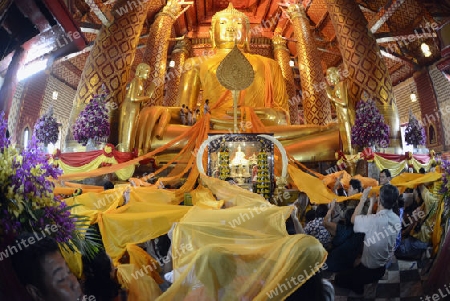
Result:
[[[7,120],[0,114],[0,243],[23,232],[55,238],[63,248],[92,256],[98,249],[88,220],[71,214],[71,206],[58,201],[54,184],[61,170],[48,163],[32,137],[28,148],[19,152],[6,137]],[[51,231],[49,230],[51,229]],[[7,243],[7,241],[6,241]]]

